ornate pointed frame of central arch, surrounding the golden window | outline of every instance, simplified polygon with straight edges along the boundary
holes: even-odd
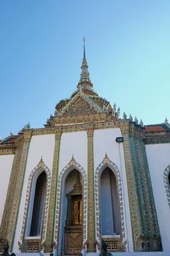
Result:
[[[57,182],[57,207],[56,207],[56,222],[55,222],[55,244],[54,247],[58,248],[58,241],[59,241],[59,224],[60,224],[60,210],[61,210],[61,199],[62,199],[62,180],[67,172],[67,170],[71,167],[75,167],[81,175],[83,180],[83,189],[82,189],[82,242],[83,244],[86,241],[86,212],[87,212],[87,175],[85,173],[84,168],[77,163],[74,158],[72,157],[71,161],[62,169],[62,171],[59,173],[58,182]]]

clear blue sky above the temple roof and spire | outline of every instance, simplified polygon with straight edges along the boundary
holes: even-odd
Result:
[[[100,96],[145,125],[170,119],[170,0],[1,0],[2,139],[76,90],[83,35]]]

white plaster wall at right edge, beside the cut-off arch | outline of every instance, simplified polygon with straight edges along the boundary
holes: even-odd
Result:
[[[164,251],[170,251],[170,209],[164,187],[164,170],[170,164],[170,144],[146,145],[147,161]]]

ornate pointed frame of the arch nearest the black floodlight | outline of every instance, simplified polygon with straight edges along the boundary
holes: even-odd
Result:
[[[100,189],[99,189],[99,180],[101,171],[106,167],[110,168],[115,177],[116,177],[116,188],[117,188],[117,199],[118,199],[118,208],[119,208],[119,227],[120,227],[120,239],[121,239],[121,251],[126,251],[125,239],[125,220],[124,220],[124,205],[123,205],[123,189],[122,189],[122,178],[119,172],[119,168],[113,163],[107,156],[102,160],[102,162],[97,166],[94,183],[95,183],[95,205],[96,205],[96,239],[98,241],[98,250],[100,250],[100,243],[102,239],[101,235],[101,210],[100,210]]]

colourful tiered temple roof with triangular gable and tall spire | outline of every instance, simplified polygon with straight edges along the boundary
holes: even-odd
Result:
[[[70,98],[62,99],[58,102],[55,107],[54,116],[51,114],[50,118],[47,119],[47,124],[45,127],[51,127],[56,124],[52,121],[59,116],[71,116],[71,115],[81,115],[81,114],[91,114],[91,113],[108,113],[111,114],[116,119],[120,118],[120,108],[116,111],[116,104],[111,103],[99,96],[93,90],[93,83],[90,79],[90,74],[88,72],[88,63],[85,57],[85,38],[84,40],[84,54],[82,59],[82,72],[80,74],[80,80],[77,84],[77,90],[72,93]]]

